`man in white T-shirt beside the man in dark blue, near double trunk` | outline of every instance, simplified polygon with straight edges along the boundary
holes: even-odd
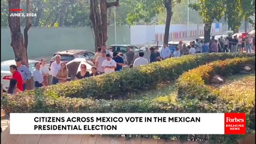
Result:
[[[104,69],[105,74],[115,72],[116,62],[111,59],[110,54],[106,54],[106,60],[102,62],[102,68]]]

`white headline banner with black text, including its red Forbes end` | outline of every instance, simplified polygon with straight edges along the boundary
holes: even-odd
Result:
[[[241,130],[245,129],[245,120],[242,122],[236,117],[226,119],[225,115],[224,113],[12,113],[10,134],[244,133],[241,133]],[[241,123],[235,122],[235,119]],[[239,125],[231,125],[226,123],[226,120],[231,124]],[[228,131],[227,126],[230,126]],[[234,127],[242,128],[232,130]]]

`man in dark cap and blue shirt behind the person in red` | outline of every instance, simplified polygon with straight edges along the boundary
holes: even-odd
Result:
[[[23,91],[25,91],[26,90],[26,82],[31,78],[32,73],[27,66],[21,64],[21,60],[19,58],[16,58],[15,62],[16,62],[17,70],[19,71],[20,75],[22,76]]]

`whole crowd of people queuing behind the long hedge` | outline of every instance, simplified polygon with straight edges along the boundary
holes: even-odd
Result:
[[[218,40],[211,38],[209,42],[201,39],[190,42],[188,46],[179,42],[178,46],[174,49],[170,49],[167,44],[163,45],[161,51],[159,47],[146,47],[146,50],[139,52],[139,58],[134,60],[135,53],[132,51],[132,47],[127,47],[127,53],[113,52],[113,47],[107,49],[103,44],[98,47],[97,53],[94,55],[94,64],[91,68],[90,74],[86,68],[86,65],[81,64],[81,71],[75,76],[75,79],[83,79],[90,76],[97,76],[100,74],[113,73],[115,71],[121,71],[124,68],[138,67],[147,65],[151,62],[165,60],[171,57],[181,57],[182,55],[195,54],[195,53],[211,53],[211,52],[251,52],[255,50],[255,37],[246,36],[234,36],[220,37]],[[66,63],[61,62],[61,56],[55,55],[55,62],[51,64],[52,84],[66,83],[68,82],[68,68]],[[29,68],[21,64],[19,58],[15,59],[16,65],[10,66],[12,73],[12,79],[10,80],[10,86],[7,93],[15,94],[26,90],[26,82],[31,78],[32,73]],[[34,86],[43,87],[48,84],[48,76],[50,76],[49,68],[46,66],[46,60],[42,59],[41,62],[35,63],[35,70],[33,71]]]

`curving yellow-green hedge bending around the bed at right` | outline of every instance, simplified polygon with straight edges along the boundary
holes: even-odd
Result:
[[[232,95],[221,92],[219,89],[207,85],[215,75],[227,76],[238,74],[241,65],[255,66],[255,58],[235,58],[224,61],[215,61],[208,65],[199,66],[181,75],[177,82],[179,99],[197,99],[204,103],[212,103],[233,109],[236,113],[246,113],[248,125],[251,129],[255,126],[255,93],[248,94],[242,99],[239,93]],[[235,98],[234,98],[235,97]],[[243,101],[238,103],[238,101]]]

